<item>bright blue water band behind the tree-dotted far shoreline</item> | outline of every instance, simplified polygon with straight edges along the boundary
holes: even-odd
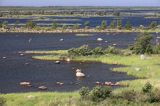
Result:
[[[53,22],[59,23],[59,24],[80,24],[81,27],[84,27],[84,23],[86,21],[90,22],[90,27],[96,27],[100,26],[101,22],[105,20],[107,22],[107,25],[111,23],[112,20],[117,20],[117,17],[58,17],[58,16],[46,16],[45,18],[49,20],[41,20],[41,21],[35,21],[37,24],[40,24],[40,26],[51,26]],[[52,19],[71,19],[68,21],[56,21]],[[72,20],[76,19],[76,20]],[[78,19],[78,20],[77,20]],[[160,22],[160,18],[149,18],[146,19],[144,16],[126,16],[126,17],[119,17],[118,19],[122,20],[122,25],[125,26],[127,21],[130,21],[133,27],[138,27],[140,25],[148,26],[152,21],[156,21],[157,23]],[[0,19],[0,21],[7,21],[9,24],[15,24],[16,21],[19,21],[19,23],[25,24],[29,20],[32,19]],[[50,24],[50,25],[48,25]]]

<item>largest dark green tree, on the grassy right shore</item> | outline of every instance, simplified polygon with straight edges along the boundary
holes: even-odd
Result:
[[[131,50],[136,54],[153,53],[152,36],[149,33],[142,33],[138,36]]]

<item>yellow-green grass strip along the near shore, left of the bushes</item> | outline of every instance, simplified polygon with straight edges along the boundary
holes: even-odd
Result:
[[[79,99],[76,92],[58,93],[58,92],[37,92],[37,93],[14,93],[1,94],[0,97],[7,98],[7,106],[49,106],[51,104],[66,104],[69,106],[71,99]],[[51,105],[54,106],[54,105]]]

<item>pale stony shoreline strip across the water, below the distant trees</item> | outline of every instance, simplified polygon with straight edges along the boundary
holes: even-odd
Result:
[[[125,29],[106,29],[106,30],[98,30],[98,29],[57,29],[57,30],[36,30],[36,29],[3,29],[0,28],[0,33],[141,33],[141,32],[150,32],[157,33],[160,32],[160,29],[149,29],[149,30],[125,30]]]

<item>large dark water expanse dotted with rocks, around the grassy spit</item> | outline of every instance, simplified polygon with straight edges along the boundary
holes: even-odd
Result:
[[[126,48],[134,42],[137,33],[93,33],[93,36],[78,37],[75,34],[0,34],[0,92],[38,91],[37,87],[45,85],[49,91],[74,91],[82,86],[95,86],[95,82],[131,80],[133,77],[124,73],[112,72],[110,68],[118,67],[95,62],[62,62],[33,60],[31,55],[21,56],[19,51],[26,50],[58,50],[79,47],[88,44],[91,47],[106,47],[117,44]],[[98,37],[103,41],[98,42]],[[60,41],[60,39],[64,41]],[[107,41],[107,42],[105,42]],[[30,43],[29,43],[30,42]],[[3,57],[6,57],[5,59]],[[82,69],[86,78],[78,80],[75,70]],[[30,81],[31,88],[19,86],[21,81]],[[63,86],[56,85],[63,82]]]

